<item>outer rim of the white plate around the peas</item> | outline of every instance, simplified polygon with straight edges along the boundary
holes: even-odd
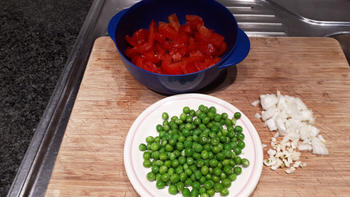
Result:
[[[209,102],[214,102],[216,105],[221,105],[221,107],[224,107],[225,109],[230,109],[230,111],[234,111],[234,112],[240,112],[241,113],[241,122],[243,123],[245,128],[249,128],[248,129],[248,133],[252,138],[252,141],[254,142],[254,151],[255,151],[255,162],[253,163],[254,167],[253,167],[253,171],[252,173],[249,175],[249,180],[248,182],[245,183],[244,187],[241,189],[241,191],[238,193],[238,195],[236,196],[249,196],[256,188],[256,185],[259,182],[260,176],[261,176],[261,172],[262,172],[262,167],[263,167],[263,151],[262,151],[262,144],[261,144],[261,140],[260,137],[258,135],[258,132],[256,131],[255,127],[253,126],[253,124],[251,123],[251,121],[247,118],[247,116],[240,111],[238,108],[236,108],[235,106],[233,106],[232,104],[219,99],[217,97],[214,96],[210,96],[210,95],[206,95],[206,94],[199,94],[199,93],[188,93],[188,94],[178,94],[178,95],[174,95],[174,96],[169,96],[166,98],[163,98],[155,103],[153,103],[152,105],[150,105],[149,107],[147,107],[137,118],[136,120],[133,122],[133,124],[131,125],[129,132],[127,134],[125,143],[124,143],[124,167],[127,173],[127,176],[132,184],[132,186],[134,187],[134,189],[136,190],[136,192],[140,195],[140,196],[154,196],[152,195],[151,192],[149,192],[147,190],[147,188],[142,184],[142,182],[139,180],[139,178],[137,177],[135,170],[133,169],[133,165],[132,165],[132,157],[131,152],[132,152],[132,139],[135,137],[136,135],[136,131],[137,131],[137,127],[140,125],[140,123],[142,122],[142,120],[149,115],[150,113],[152,113],[153,111],[155,111],[158,107],[166,104],[167,102],[176,102],[177,100],[183,100],[183,99],[198,99],[198,100],[206,100]],[[138,146],[137,146],[138,147]],[[252,163],[251,163],[252,165]],[[172,196],[169,194],[169,196]]]

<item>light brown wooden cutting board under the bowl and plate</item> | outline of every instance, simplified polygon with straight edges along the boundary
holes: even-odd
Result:
[[[307,167],[287,175],[263,167],[253,196],[350,196],[350,68],[331,38],[250,38],[249,56],[204,93],[242,110],[269,144],[272,132],[254,117],[260,94],[301,98],[313,110],[330,155],[303,153]],[[164,98],[133,79],[108,37],[93,47],[47,196],[137,196],[123,165],[129,127]],[[266,156],[266,150],[264,154]]]

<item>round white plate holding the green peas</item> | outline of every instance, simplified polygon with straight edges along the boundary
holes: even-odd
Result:
[[[197,109],[200,104],[215,106],[217,112],[226,112],[232,117],[235,112],[241,112],[233,105],[213,96],[203,94],[181,94],[164,98],[143,111],[132,124],[124,145],[124,165],[127,175],[141,196],[174,196],[168,193],[168,187],[159,190],[155,181],[150,182],[146,174],[150,168],[143,167],[143,153],[139,150],[139,144],[145,143],[147,136],[157,136],[155,129],[157,124],[162,123],[162,113],[167,112],[169,117],[179,116],[184,106]],[[229,196],[249,196],[255,189],[262,170],[263,152],[259,135],[249,119],[241,112],[242,116],[237,125],[243,127],[246,147],[242,151],[242,157],[250,161],[248,168],[243,168],[242,174],[232,182],[229,188]],[[178,194],[176,196],[182,196]],[[216,193],[215,196],[220,196]]]

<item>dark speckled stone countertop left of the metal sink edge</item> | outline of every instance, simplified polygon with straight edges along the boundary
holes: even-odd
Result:
[[[92,0],[0,1],[0,196],[6,196]]]

